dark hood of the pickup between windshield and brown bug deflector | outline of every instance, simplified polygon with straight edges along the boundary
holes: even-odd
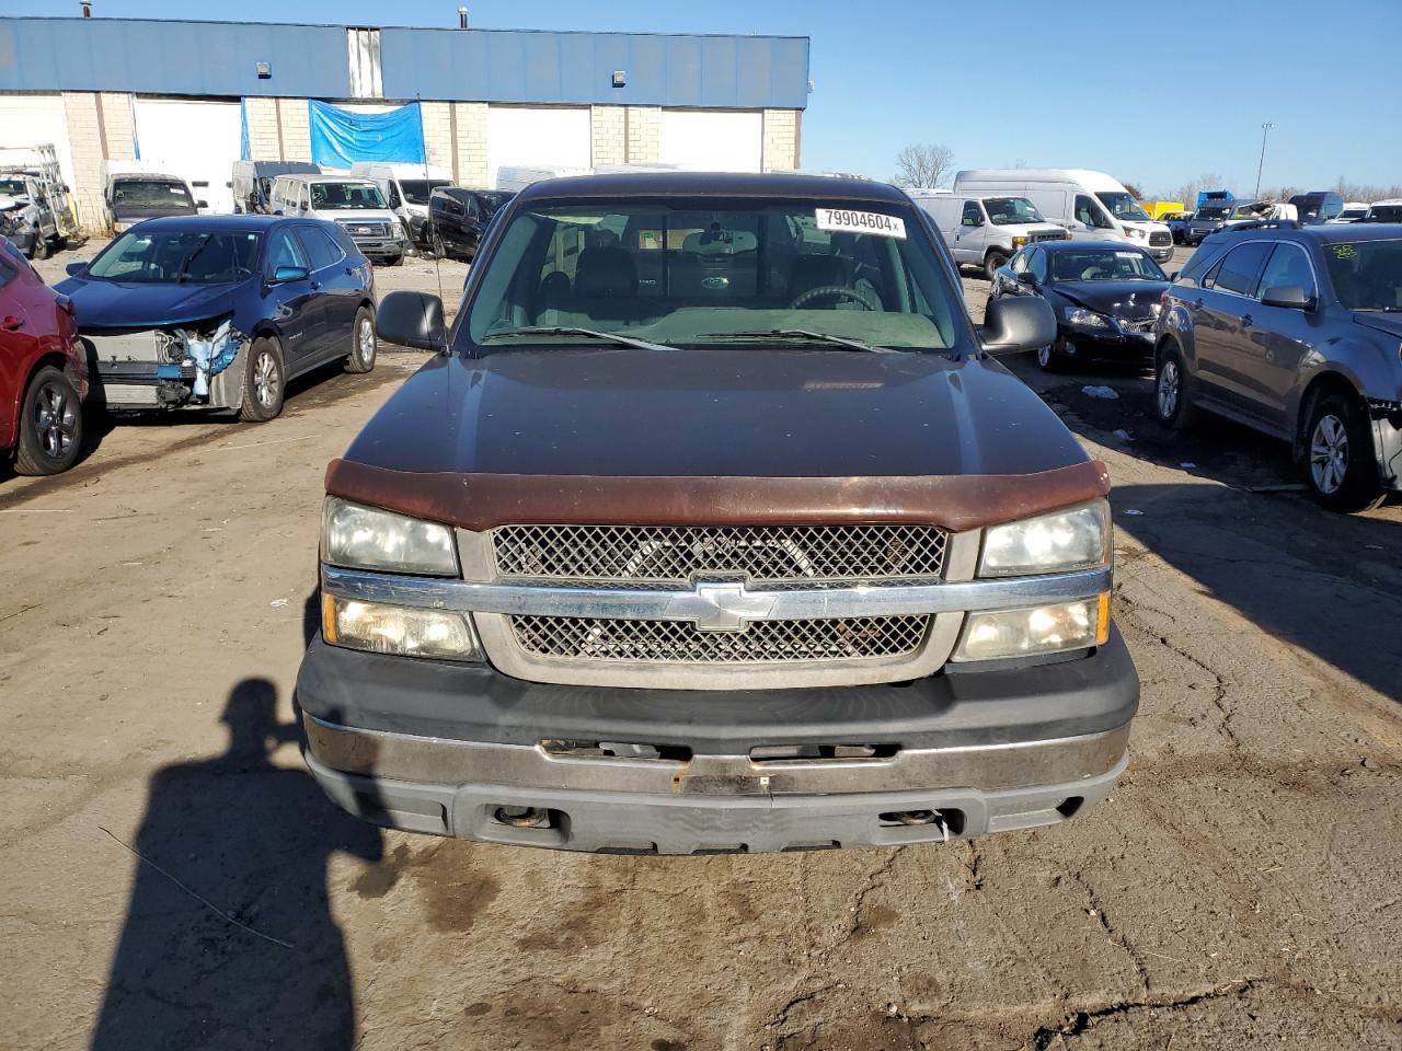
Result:
[[[435,357],[346,460],[456,475],[850,478],[1029,474],[1088,458],[986,359],[575,346]]]

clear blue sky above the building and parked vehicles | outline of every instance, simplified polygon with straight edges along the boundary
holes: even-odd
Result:
[[[1402,182],[1402,0],[1329,4],[1101,0],[463,0],[472,25],[812,38],[803,164],[889,178],[910,143],[955,165],[1081,167],[1145,192],[1216,172],[1263,184]],[[456,25],[458,0],[304,0],[279,21]],[[172,0],[95,0],[98,17],[189,17]],[[210,8],[205,8],[210,10]],[[238,10],[219,15],[237,18]],[[0,0],[3,14],[79,0]],[[1166,14],[1164,11],[1171,11]]]

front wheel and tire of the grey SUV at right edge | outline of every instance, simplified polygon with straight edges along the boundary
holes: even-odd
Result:
[[[1332,511],[1366,511],[1387,497],[1378,482],[1373,429],[1357,398],[1323,394],[1311,402],[1304,475],[1309,495]]]

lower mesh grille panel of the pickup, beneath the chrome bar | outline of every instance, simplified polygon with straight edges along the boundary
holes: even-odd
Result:
[[[742,631],[701,631],[683,621],[512,617],[516,642],[538,657],[604,661],[794,663],[899,657],[925,640],[931,617],[751,621]]]

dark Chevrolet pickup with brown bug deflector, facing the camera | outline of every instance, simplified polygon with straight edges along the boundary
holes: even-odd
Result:
[[[799,175],[551,179],[327,472],[304,754],[349,811],[582,851],[1064,821],[1127,762],[1101,464],[923,213]]]

